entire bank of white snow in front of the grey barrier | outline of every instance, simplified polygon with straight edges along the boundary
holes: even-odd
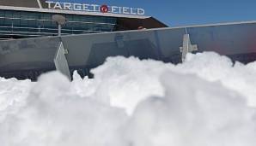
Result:
[[[254,146],[255,62],[214,53],[174,66],[114,57],[69,82],[0,79],[3,146]],[[2,117],[2,118],[1,118]]]

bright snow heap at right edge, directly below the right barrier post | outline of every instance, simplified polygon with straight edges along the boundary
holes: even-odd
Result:
[[[195,73],[208,81],[220,81],[225,87],[246,96],[248,104],[256,107],[256,61],[246,66],[232,63],[226,56],[216,53],[187,55],[186,62],[176,69],[184,73]]]

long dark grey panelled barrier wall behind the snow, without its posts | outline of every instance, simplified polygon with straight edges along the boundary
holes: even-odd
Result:
[[[70,69],[82,69],[87,74],[89,68],[116,55],[178,63],[186,32],[192,44],[198,44],[198,51],[215,51],[234,61],[256,60],[256,23],[250,22],[0,41],[0,75],[55,69],[53,58],[60,40],[69,50],[66,58]]]

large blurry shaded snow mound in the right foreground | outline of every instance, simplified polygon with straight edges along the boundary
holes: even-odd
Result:
[[[167,72],[161,80],[164,98],[141,102],[125,126],[132,145],[255,145],[255,110],[239,94],[195,75]]]

